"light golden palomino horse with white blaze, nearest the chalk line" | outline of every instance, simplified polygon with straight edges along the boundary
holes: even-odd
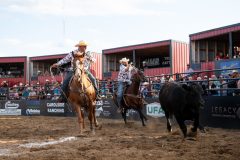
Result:
[[[84,109],[88,112],[88,119],[90,121],[90,129],[93,132],[93,122],[95,127],[98,127],[98,122],[95,116],[95,89],[84,71],[84,57],[74,57],[73,67],[74,76],[70,82],[69,101],[71,102],[74,111],[78,116],[78,123],[80,134],[85,128],[84,124]]]

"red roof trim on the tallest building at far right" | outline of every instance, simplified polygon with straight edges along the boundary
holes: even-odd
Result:
[[[190,40],[198,40],[198,39],[204,39],[204,38],[226,34],[229,32],[234,32],[234,31],[240,31],[240,23],[221,27],[221,28],[215,28],[212,30],[203,31],[195,34],[190,34],[189,37],[190,37]]]

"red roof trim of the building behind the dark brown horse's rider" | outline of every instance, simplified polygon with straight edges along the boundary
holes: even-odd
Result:
[[[132,46],[119,47],[119,48],[105,49],[103,50],[103,54],[112,54],[112,53],[126,52],[126,51],[132,51],[137,49],[167,46],[170,44],[171,44],[171,40],[138,44],[138,45],[132,45]]]

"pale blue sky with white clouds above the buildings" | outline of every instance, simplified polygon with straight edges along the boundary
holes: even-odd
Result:
[[[240,23],[239,0],[0,0],[0,57],[103,49]]]

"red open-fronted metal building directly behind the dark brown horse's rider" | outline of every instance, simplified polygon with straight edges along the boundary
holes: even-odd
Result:
[[[181,73],[189,63],[189,46],[185,42],[165,40],[103,50],[103,76],[115,80],[119,60],[129,58],[147,76]],[[143,66],[146,64],[146,67]]]

